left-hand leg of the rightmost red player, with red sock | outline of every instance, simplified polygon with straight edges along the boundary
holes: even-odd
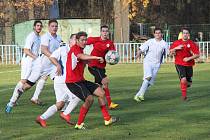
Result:
[[[180,79],[180,89],[182,92],[182,100],[187,100],[187,78],[186,78],[186,68],[185,66],[175,65],[179,79]]]

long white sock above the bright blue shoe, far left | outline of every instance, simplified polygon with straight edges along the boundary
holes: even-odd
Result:
[[[23,88],[23,83],[19,81],[13,91],[13,95],[10,99],[9,106],[13,106],[14,103],[17,101],[18,97],[20,96],[18,90],[22,90],[22,88]]]

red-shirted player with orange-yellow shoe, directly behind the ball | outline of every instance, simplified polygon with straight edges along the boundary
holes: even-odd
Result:
[[[105,58],[106,53],[109,50],[115,50],[115,46],[111,40],[109,40],[109,28],[104,25],[101,26],[100,37],[89,37],[87,45],[93,45],[93,50],[90,55]],[[105,91],[106,100],[109,109],[115,109],[119,104],[115,104],[111,100],[110,91],[108,88],[109,79],[106,75],[106,61],[100,63],[98,60],[92,60],[88,64],[89,72],[94,76],[95,83],[101,85]]]

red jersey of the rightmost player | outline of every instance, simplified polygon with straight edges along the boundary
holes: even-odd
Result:
[[[194,60],[184,62],[183,59],[185,57],[191,57],[193,54],[199,54],[199,47],[192,40],[183,41],[180,39],[174,41],[170,46],[170,49],[173,49],[179,45],[183,45],[184,47],[181,50],[176,50],[175,64],[182,66],[193,66],[195,64]]]

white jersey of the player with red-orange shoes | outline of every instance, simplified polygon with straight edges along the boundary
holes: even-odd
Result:
[[[55,76],[54,83],[65,83],[66,80],[66,61],[67,61],[67,55],[70,48],[69,46],[65,45],[57,50],[55,50],[50,57],[54,57],[58,60],[59,64],[62,68],[62,75],[61,76]],[[56,67],[54,72],[56,71]]]

